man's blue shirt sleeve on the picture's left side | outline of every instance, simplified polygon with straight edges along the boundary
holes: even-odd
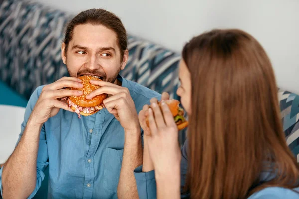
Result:
[[[41,93],[42,90],[42,86],[38,87],[35,89],[35,91],[33,92],[33,94],[31,95],[26,110],[25,110],[25,115],[24,115],[24,121],[21,124],[21,133],[19,135],[18,141],[16,143],[16,146],[18,145],[20,139],[22,138],[22,135],[24,133],[24,129],[27,125],[27,121],[31,115],[31,112],[35,106],[36,101],[38,100],[38,97]],[[43,181],[43,179],[45,178],[45,174],[44,174],[44,170],[46,169],[46,167],[48,166],[49,162],[48,162],[48,150],[47,150],[47,142],[46,142],[46,135],[45,135],[45,128],[44,125],[42,126],[41,132],[40,132],[40,138],[39,138],[39,148],[38,148],[38,155],[37,155],[37,168],[36,168],[36,185],[35,185],[35,189],[32,192],[32,194],[28,197],[28,199],[32,199],[34,197],[34,195],[36,194],[36,192],[38,191],[38,189],[41,186],[41,182]],[[3,168],[5,166],[3,166],[0,170],[0,191],[1,191],[1,195],[2,194],[2,172],[3,172]]]

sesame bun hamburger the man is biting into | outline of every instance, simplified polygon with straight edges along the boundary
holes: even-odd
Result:
[[[90,94],[92,91],[100,88],[98,85],[93,85],[89,81],[90,80],[98,80],[102,81],[97,76],[92,75],[83,75],[80,76],[79,79],[82,80],[83,88],[70,88],[72,90],[81,90],[83,91],[82,96],[70,96],[67,100],[67,103],[69,107],[75,111],[78,114],[78,117],[80,115],[83,116],[89,116],[92,114],[95,114],[99,110],[103,109],[103,100],[105,100],[108,95],[107,94],[101,94],[98,96],[95,96],[92,99],[86,99],[86,96]]]

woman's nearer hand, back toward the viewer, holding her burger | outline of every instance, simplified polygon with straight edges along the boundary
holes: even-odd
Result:
[[[178,129],[166,103],[161,102],[159,106],[157,99],[152,99],[150,106],[146,113],[150,135],[146,135],[146,141],[156,177],[172,175],[180,170]]]

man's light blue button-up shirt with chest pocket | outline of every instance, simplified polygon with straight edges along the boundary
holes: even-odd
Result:
[[[122,81],[123,87],[129,89],[137,112],[143,105],[150,104],[151,98],[160,99],[160,94],[146,87],[121,76],[118,79]],[[38,87],[28,102],[19,140],[42,88]],[[81,119],[76,113],[61,109],[42,126],[36,187],[29,199],[39,189],[46,167],[49,167],[48,198],[117,198],[123,148],[124,129],[106,109],[90,116],[81,116]]]

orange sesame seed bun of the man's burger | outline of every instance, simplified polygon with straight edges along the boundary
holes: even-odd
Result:
[[[105,100],[108,97],[107,94],[101,94],[101,95],[95,96],[92,99],[86,99],[86,96],[88,94],[90,94],[92,91],[100,88],[100,86],[93,85],[89,81],[90,80],[102,81],[102,80],[100,80],[99,78],[97,78],[95,76],[91,76],[91,75],[83,75],[83,76],[80,76],[79,79],[82,80],[83,88],[71,88],[71,89],[72,90],[81,90],[81,91],[83,91],[83,95],[82,96],[70,96],[69,99],[74,104],[81,106],[81,107],[94,107],[97,105],[101,105],[103,103],[103,100]]]

